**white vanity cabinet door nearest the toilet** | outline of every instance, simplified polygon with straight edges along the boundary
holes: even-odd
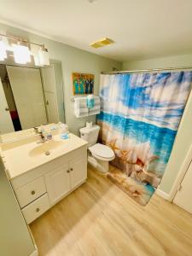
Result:
[[[87,158],[81,156],[69,162],[72,189],[87,178]]]

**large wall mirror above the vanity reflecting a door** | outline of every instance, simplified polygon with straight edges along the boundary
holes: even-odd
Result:
[[[0,135],[65,122],[61,61],[49,67],[0,64]]]

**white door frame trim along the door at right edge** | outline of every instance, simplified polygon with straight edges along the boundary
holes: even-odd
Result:
[[[189,151],[183,160],[183,165],[181,166],[180,171],[177,174],[177,177],[172,185],[172,189],[170,191],[168,201],[173,201],[174,197],[177,194],[177,189],[180,187],[180,184],[183,182],[183,178],[188,171],[189,165],[192,162],[192,143],[190,145]]]

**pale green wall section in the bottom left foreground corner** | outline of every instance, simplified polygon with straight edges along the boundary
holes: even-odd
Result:
[[[26,256],[34,252],[32,237],[0,158],[0,255]]]

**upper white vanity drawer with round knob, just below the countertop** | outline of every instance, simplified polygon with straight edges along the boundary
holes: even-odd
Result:
[[[37,199],[39,196],[44,195],[46,187],[44,177],[38,177],[31,183],[27,183],[20,189],[15,190],[16,197],[20,203],[20,207],[26,207],[30,202]]]

